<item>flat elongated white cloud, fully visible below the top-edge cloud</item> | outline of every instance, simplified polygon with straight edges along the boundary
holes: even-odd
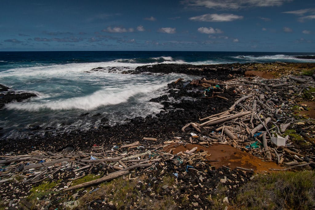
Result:
[[[243,19],[243,16],[236,14],[203,14],[189,18],[189,20],[205,22],[228,22],[240,19]]]

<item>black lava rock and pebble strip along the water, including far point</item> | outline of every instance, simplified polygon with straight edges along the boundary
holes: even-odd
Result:
[[[220,64],[220,65],[186,65],[186,64],[157,64],[153,66],[137,67],[132,74],[141,73],[186,73],[200,78],[214,78],[221,81],[234,79],[244,76],[256,76],[255,72],[263,72],[264,76],[269,78],[279,77],[280,74],[300,74],[301,69],[315,68],[315,63],[247,63],[247,64]],[[100,70],[100,69],[99,69]],[[250,74],[245,75],[245,71]],[[253,74],[254,72],[254,74]],[[186,82],[186,81],[185,81]],[[188,81],[189,82],[189,81]],[[199,118],[218,113],[222,108],[227,108],[232,102],[222,99],[213,99],[212,105],[209,105],[207,100],[201,98],[202,88],[188,85],[183,88],[183,81],[177,84],[174,82],[168,85],[169,97],[181,99],[180,103],[171,103],[168,97],[152,98],[151,101],[161,103],[164,106],[164,111],[156,114],[156,116],[135,117],[128,119],[124,124],[109,126],[104,122],[99,128],[90,129],[88,131],[80,131],[74,129],[69,133],[53,134],[53,130],[48,129],[44,136],[30,136],[24,139],[0,139],[1,154],[15,152],[16,154],[25,154],[31,150],[52,150],[58,151],[60,148],[71,144],[77,149],[90,148],[94,144],[111,145],[113,143],[122,143],[123,141],[141,140],[139,136],[154,135],[163,140],[167,140],[169,133],[180,132],[180,125],[183,126],[190,121],[198,121]],[[179,89],[180,91],[177,91]],[[226,92],[222,95],[225,98],[233,101],[236,94]],[[183,97],[191,97],[197,100],[197,103],[192,103],[190,100],[183,100]],[[166,99],[166,100],[165,100]],[[208,107],[208,108],[207,108]],[[178,110],[183,109],[183,110]],[[176,116],[182,115],[180,119],[175,119]],[[106,120],[105,120],[106,121]],[[169,123],[166,123],[169,122]],[[43,128],[41,128],[43,129]],[[37,127],[31,128],[36,132]],[[30,130],[30,133],[32,132]],[[166,134],[161,134],[166,133]],[[168,138],[169,139],[169,138]]]

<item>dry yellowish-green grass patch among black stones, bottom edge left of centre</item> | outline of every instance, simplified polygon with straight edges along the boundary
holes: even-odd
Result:
[[[174,198],[163,196],[161,199],[154,196],[143,196],[141,190],[150,188],[150,193],[158,194],[158,190],[163,190],[163,185],[173,185],[175,179],[165,176],[160,184],[152,184],[151,187],[144,182],[145,177],[138,177],[129,180],[120,177],[110,182],[100,185],[98,190],[80,199],[79,209],[87,209],[89,203],[95,200],[105,200],[117,209],[143,208],[143,209],[177,209]]]

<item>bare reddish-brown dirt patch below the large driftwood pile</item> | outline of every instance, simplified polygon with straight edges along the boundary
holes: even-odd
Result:
[[[165,148],[165,151],[172,149],[173,154],[176,154],[180,151],[191,150],[194,147],[198,147],[197,151],[208,151],[208,154],[211,154],[211,156],[208,157],[208,160],[218,161],[210,162],[210,164],[216,168],[222,167],[224,165],[232,169],[236,167],[251,168],[254,169],[255,172],[270,171],[269,168],[283,169],[283,167],[278,166],[274,162],[265,162],[263,159],[255,157],[247,152],[243,152],[235,147],[232,147],[231,145],[218,144],[212,145],[209,148],[195,144],[189,144],[186,146],[180,145],[178,147],[175,147],[175,145],[170,145]]]

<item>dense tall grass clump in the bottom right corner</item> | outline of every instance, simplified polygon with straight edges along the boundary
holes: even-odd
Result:
[[[237,209],[312,209],[315,173],[260,174],[241,188],[233,206]]]

